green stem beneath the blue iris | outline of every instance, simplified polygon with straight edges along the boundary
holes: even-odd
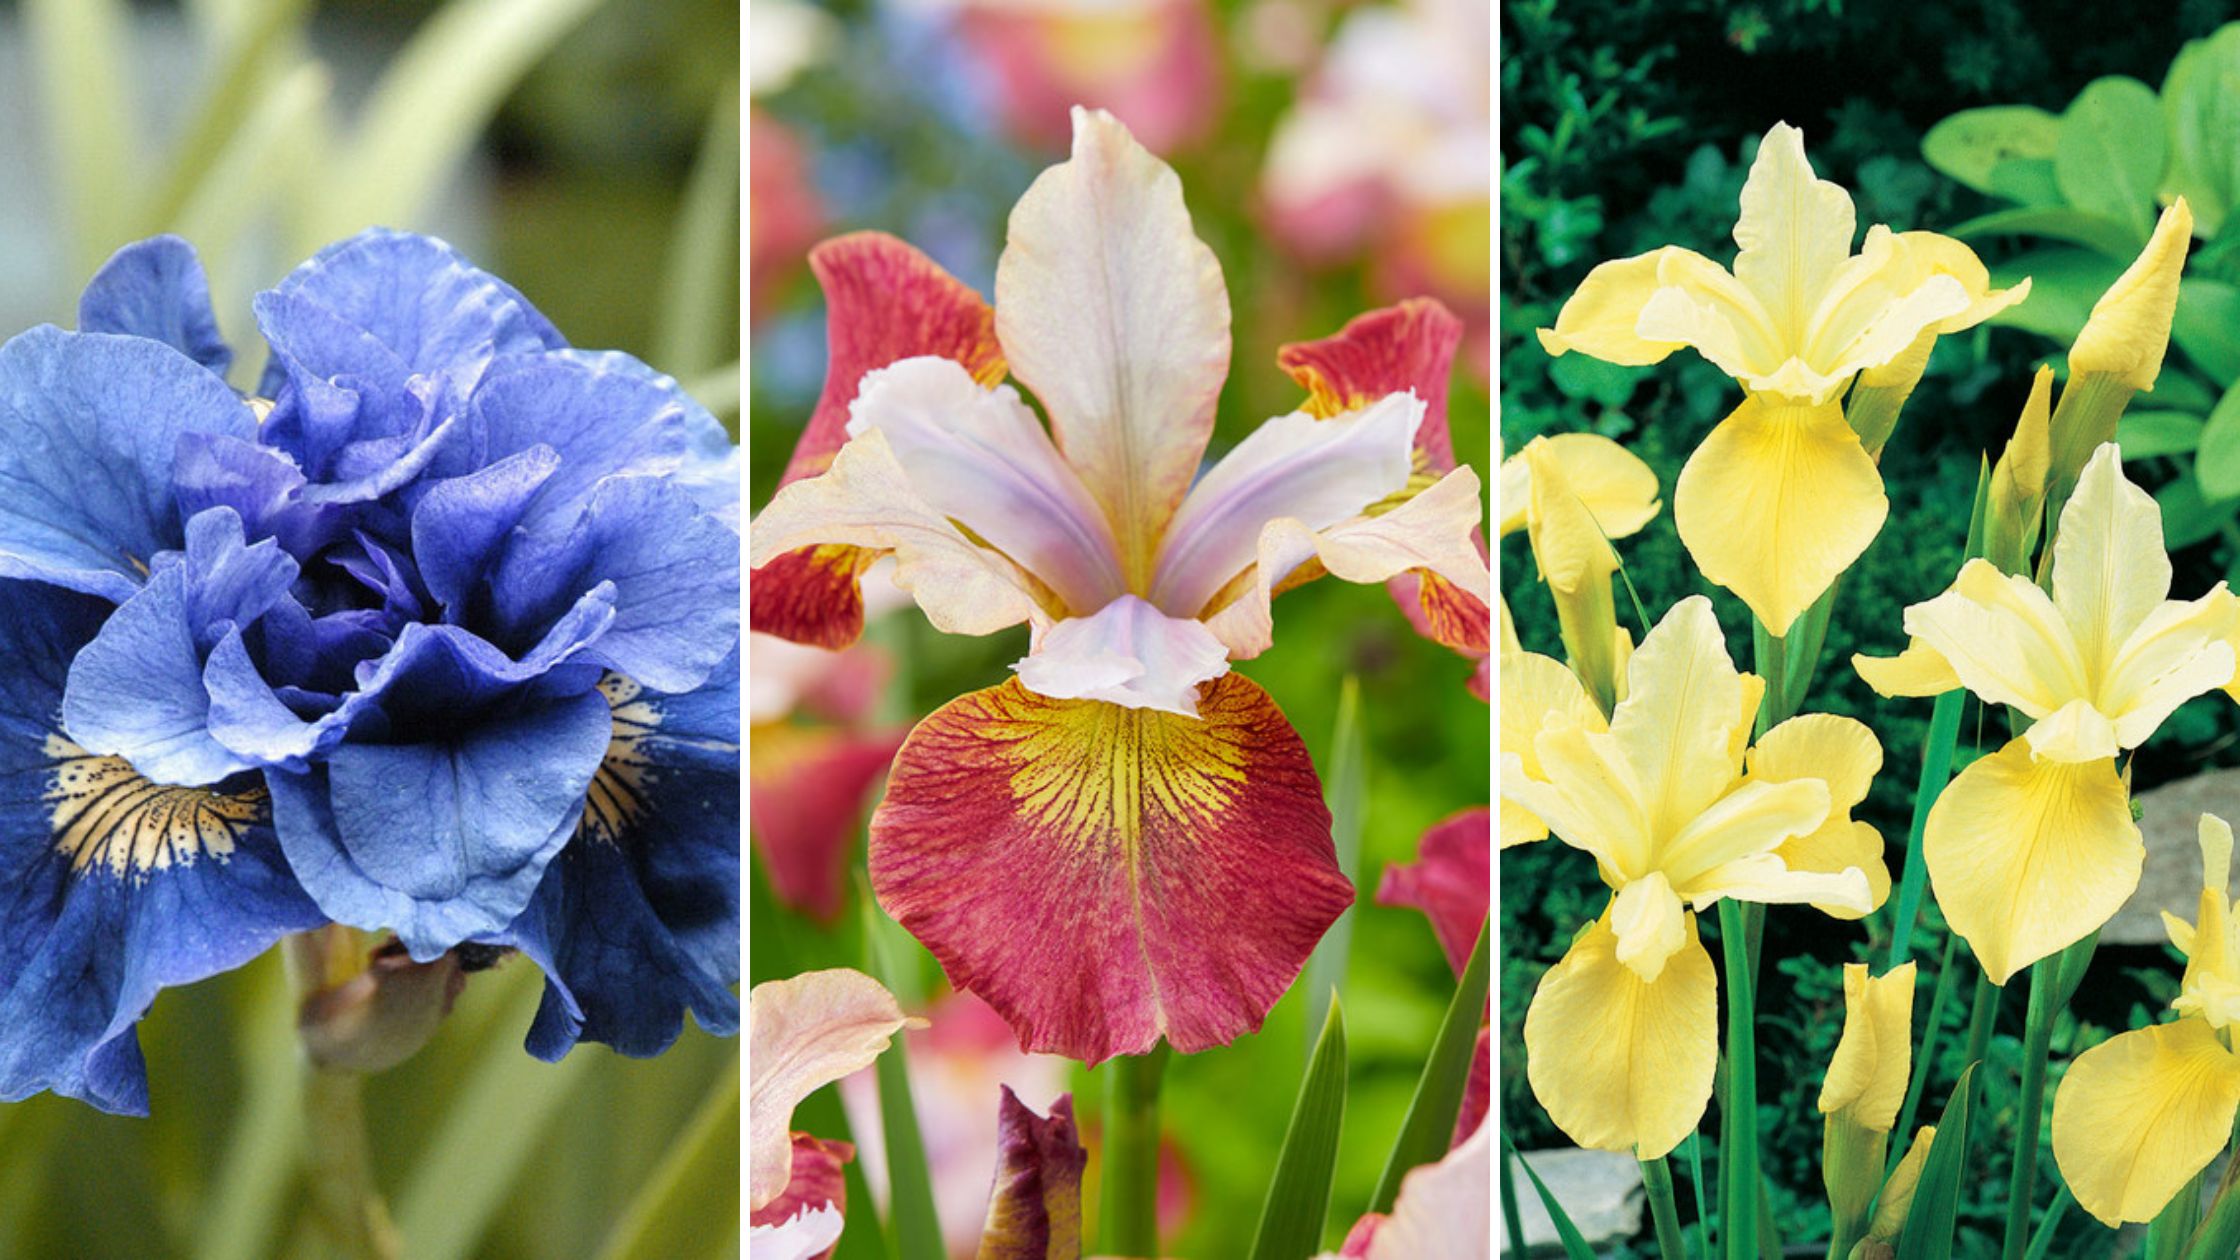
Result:
[[[354,955],[356,937],[349,928],[329,926],[287,937],[280,957],[287,960],[289,986],[298,1000],[289,1011],[345,973]],[[316,1067],[309,1056],[298,1063],[305,1179],[336,1256],[399,1260],[403,1244],[374,1182],[374,1157],[365,1141],[365,1076]]]

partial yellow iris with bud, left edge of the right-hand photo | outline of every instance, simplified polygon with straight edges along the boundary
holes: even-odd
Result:
[[[1658,516],[1658,475],[1640,455],[1595,433],[1534,437],[1501,462],[1501,536],[1532,540],[1570,666],[1608,713],[1617,704],[1620,630],[1611,599],[1613,538]]]

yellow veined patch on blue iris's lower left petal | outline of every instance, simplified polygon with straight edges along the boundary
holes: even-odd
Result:
[[[76,872],[103,865],[146,877],[202,856],[224,859],[242,832],[264,821],[264,789],[215,791],[150,782],[123,758],[94,756],[47,735],[54,845]]]

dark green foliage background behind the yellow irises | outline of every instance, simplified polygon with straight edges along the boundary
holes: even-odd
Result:
[[[1740,390],[1687,352],[1655,368],[1615,368],[1584,354],[1550,359],[1532,330],[1555,323],[1564,298],[1597,262],[1660,244],[1684,244],[1723,262],[1732,258],[1736,197],[1758,137],[1776,121],[1803,128],[1814,168],[1850,191],[1861,229],[1882,222],[1895,231],[1953,231],[2012,209],[2012,202],[1960,184],[1924,159],[1924,137],[1940,119],[1976,105],[2014,103],[2063,114],[2088,83],[2110,74],[2137,78],[2148,90],[2162,87],[2166,67],[2188,40],[2211,36],[2236,16],[2240,9],[2224,0],[2148,7],[2076,0],[1503,0],[1499,354],[1505,448],[1516,451],[1539,433],[1593,430],[1646,460],[1658,473],[1664,511],[1617,545],[1642,605],[1655,621],[1678,599],[1709,594],[1732,655],[1747,664],[1747,610],[1696,574],[1671,518],[1680,466],[1740,401]],[[2148,211],[2144,202],[2128,209],[2141,224]],[[2106,269],[2088,289],[2072,294],[2079,285],[2059,274],[2065,271],[2061,260],[2047,262],[2043,240],[2009,233],[1969,233],[1967,240],[2000,282],[2032,271],[2043,278],[2014,318],[1940,339],[1882,460],[1891,518],[1844,581],[1805,702],[1808,711],[1859,717],[1879,735],[1884,771],[1857,816],[1882,830],[1893,877],[1904,856],[1929,704],[1879,700],[1848,668],[1848,659],[1852,652],[1897,652],[1904,646],[1904,605],[1949,585],[1960,567],[1978,460],[1998,455],[2014,433],[2034,365],[2061,365],[2083,312],[2124,265],[2094,262]],[[2056,327],[2061,321],[2047,323],[2045,312],[2074,303],[2083,303],[2074,307],[2074,323],[2065,330]],[[2215,392],[2200,379],[2222,381],[2209,368],[2184,345],[2173,348],[2157,390],[2141,395],[2132,413],[2173,406],[2209,410]],[[2233,419],[2240,421],[2240,413]],[[2137,442],[2132,421],[2126,421],[2124,446],[2126,473],[2157,491],[2171,513],[2173,594],[2195,596],[2213,581],[2240,574],[2240,534],[2229,525],[2231,507],[2240,504],[2218,504],[2222,511],[2213,516],[2197,507],[2173,509],[2173,495],[2184,498],[2193,478],[2191,444],[2141,457],[2150,446]],[[2191,498],[2197,504],[2200,493]],[[2206,527],[2191,525],[2204,516]],[[1503,543],[1501,572],[1523,646],[1561,655],[1555,610],[1534,581],[1523,534]],[[1637,639],[1642,628],[1633,626],[1626,599],[1620,599],[1620,614]],[[1998,747],[1996,731],[1980,731],[1985,726],[1971,702],[1956,769],[1978,747]],[[2240,713],[2231,700],[2211,693],[2182,706],[2139,749],[2132,782],[2148,789],[2236,762]],[[1525,1083],[1521,1027],[1541,973],[1602,910],[1608,890],[1579,852],[1552,843],[1505,852],[1501,879],[1508,890],[1501,904],[1505,1125],[1521,1148],[1568,1146]],[[1935,948],[1944,935],[1933,901],[1924,906],[1922,921],[1915,955],[1924,960],[1926,989],[1935,955],[1922,951]],[[1817,1238],[1826,1249],[1821,1125],[1812,1103],[1841,1034],[1839,969],[1870,953],[1882,966],[1886,948],[1888,915],[1866,924],[1839,924],[1799,908],[1767,915],[1767,966],[1758,982],[1761,1128],[1779,1233],[1788,1244]],[[1960,957],[1967,957],[1964,951]],[[2054,1081],[2076,1051],[2124,1027],[2150,1022],[2153,1011],[2175,995],[2177,973],[2180,960],[2168,948],[2103,944],[2076,1002],[2056,1025]],[[1964,1007],[1960,998],[1947,1004],[1938,1090],[1960,1069]],[[1926,1009],[1926,995],[1920,1009]],[[1958,1256],[1996,1253],[2018,1108],[2023,1016],[2023,1004],[2009,1000],[1991,1043],[1985,1096],[1987,1123],[1998,1132],[1973,1143],[1982,1175],[1969,1184],[1971,1197],[1962,1204]],[[1931,1090],[1924,1119],[1933,1114],[1938,1090]],[[1716,1137],[1716,1108],[1700,1132],[1707,1141]],[[1676,1166],[1684,1168],[1684,1159]],[[1693,1220],[1684,1186],[1680,1204],[1682,1217]],[[2070,1213],[2054,1253],[2106,1256],[2108,1247],[2106,1231],[2085,1222],[2083,1213]],[[1644,1235],[1617,1253],[1646,1256],[1653,1242]]]

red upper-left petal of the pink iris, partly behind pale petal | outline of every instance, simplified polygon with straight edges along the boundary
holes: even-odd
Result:
[[[968,285],[909,244],[876,231],[809,251],[824,289],[824,392],[780,484],[815,478],[847,442],[849,404],[862,374],[918,354],[963,363],[972,379],[1004,379],[995,312]],[[844,648],[862,634],[858,578],[876,558],[851,545],[773,556],[748,578],[748,623],[764,634]]]

